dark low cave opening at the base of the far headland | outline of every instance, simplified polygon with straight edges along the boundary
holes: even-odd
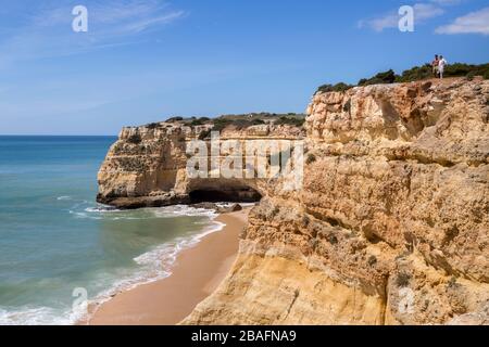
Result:
[[[192,204],[200,203],[256,203],[262,198],[256,190],[246,188],[240,190],[195,190],[189,194]]]

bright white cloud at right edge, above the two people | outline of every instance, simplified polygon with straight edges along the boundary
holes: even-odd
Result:
[[[457,17],[453,23],[438,27],[435,33],[489,35],[489,8]]]

